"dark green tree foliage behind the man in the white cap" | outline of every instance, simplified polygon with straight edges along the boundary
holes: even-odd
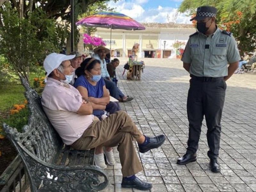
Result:
[[[74,0],[74,20],[86,11],[106,10],[108,1]],[[69,36],[70,12],[70,0],[0,0],[0,54],[28,80],[31,67],[60,51]]]

